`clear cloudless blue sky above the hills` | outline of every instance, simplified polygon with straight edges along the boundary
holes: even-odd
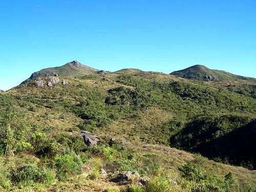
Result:
[[[0,89],[72,60],[164,73],[201,64],[256,77],[256,1],[0,0]]]

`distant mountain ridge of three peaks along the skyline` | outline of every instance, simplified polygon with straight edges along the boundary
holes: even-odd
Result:
[[[112,72],[116,74],[120,73],[144,73],[145,71],[142,71],[140,69],[134,69],[134,68],[125,68],[120,69],[118,71]],[[31,74],[31,76],[26,79],[24,82],[27,82],[29,80],[33,80],[35,78],[42,78],[42,77],[49,77],[54,76],[58,74],[59,76],[84,76],[88,74],[103,74],[103,73],[109,73],[103,70],[95,69],[93,67],[83,65],[81,62],[77,60],[73,60],[70,62],[67,62],[65,65],[59,66],[59,67],[50,67],[46,69],[41,69],[37,72],[34,72]],[[192,79],[192,80],[200,80],[200,81],[223,81],[223,80],[252,80],[256,81],[253,77],[245,77],[241,75],[235,75],[223,70],[213,70],[209,69],[203,65],[194,65],[190,66],[183,70],[178,70],[170,73],[170,75],[174,75],[177,77],[185,78],[185,79]]]

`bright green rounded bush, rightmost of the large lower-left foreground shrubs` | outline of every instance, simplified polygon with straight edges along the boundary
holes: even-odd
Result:
[[[56,156],[55,168],[57,178],[60,180],[66,179],[70,175],[80,174],[82,171],[81,159],[74,153]]]

